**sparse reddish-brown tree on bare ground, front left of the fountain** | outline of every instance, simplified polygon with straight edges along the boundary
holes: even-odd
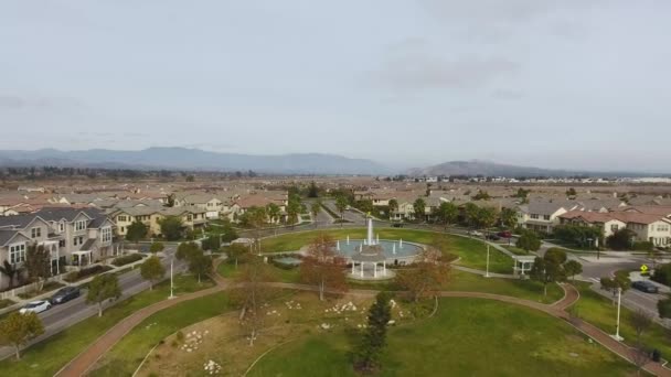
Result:
[[[235,287],[237,288],[233,291],[233,299],[241,309],[239,321],[247,333],[249,346],[254,345],[254,341],[264,325],[266,313],[263,312],[263,308],[273,298],[273,290],[266,282],[271,279],[273,274],[268,265],[256,256],[249,256],[236,278]]]

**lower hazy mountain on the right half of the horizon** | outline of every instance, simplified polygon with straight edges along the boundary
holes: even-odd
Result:
[[[595,172],[595,171],[571,171],[571,170],[554,170],[554,169],[542,169],[531,166],[518,166],[494,163],[489,161],[470,160],[470,161],[450,161],[441,164],[411,169],[406,172],[413,176],[437,176],[437,175],[483,175],[483,176],[504,176],[504,177],[519,177],[519,176],[554,176],[554,177],[566,177],[576,175],[587,176],[649,176],[651,173],[643,172]],[[660,174],[652,174],[660,175]],[[668,176],[669,174],[662,174]]]

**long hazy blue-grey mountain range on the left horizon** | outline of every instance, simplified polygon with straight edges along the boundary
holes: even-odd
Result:
[[[342,155],[299,153],[253,155],[217,153],[188,148],[149,148],[139,151],[90,149],[60,151],[0,151],[0,165],[82,166],[140,170],[200,170],[235,172],[253,170],[269,174],[385,174],[390,169],[376,162]]]

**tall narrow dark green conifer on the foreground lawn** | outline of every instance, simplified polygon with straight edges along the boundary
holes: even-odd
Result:
[[[392,319],[392,306],[386,292],[380,292],[369,310],[369,324],[361,343],[354,351],[354,368],[372,374],[377,367],[382,349],[386,345],[386,327]]]

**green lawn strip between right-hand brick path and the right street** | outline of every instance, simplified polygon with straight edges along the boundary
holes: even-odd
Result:
[[[615,324],[617,320],[617,304],[604,298],[603,295],[589,289],[588,283],[576,283],[576,288],[581,291],[581,299],[575,303],[578,315],[601,328],[608,334],[615,334]],[[632,311],[621,306],[620,313],[620,335],[625,337],[625,343],[633,344],[636,341],[636,332],[630,325]],[[671,331],[654,324],[642,335],[642,342],[647,347],[658,348],[662,352],[662,357],[671,357]]]

